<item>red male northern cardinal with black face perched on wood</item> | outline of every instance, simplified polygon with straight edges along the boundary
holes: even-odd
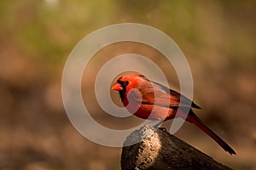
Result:
[[[149,81],[139,74],[119,77],[118,81],[113,84],[112,89],[119,91],[123,105],[135,116],[143,119],[166,121],[177,115],[201,128],[230,155],[236,155],[235,150],[204,125],[191,109],[201,108],[182,94],[166,88],[158,82]],[[177,110],[179,105],[180,111]],[[188,109],[189,114],[186,116],[185,110]]]

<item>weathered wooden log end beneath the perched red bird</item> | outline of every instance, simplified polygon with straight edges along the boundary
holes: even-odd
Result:
[[[138,140],[141,142],[132,144]],[[122,170],[230,169],[167,133],[165,129],[155,130],[148,126],[134,131],[125,140],[121,167]]]

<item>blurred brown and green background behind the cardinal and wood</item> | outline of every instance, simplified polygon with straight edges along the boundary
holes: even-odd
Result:
[[[195,103],[203,108],[198,115],[237,156],[189,123],[177,137],[225,165],[256,169],[255,5],[253,0],[1,1],[0,169],[120,169],[121,148],[94,144],[69,122],[61,100],[61,74],[82,38],[122,22],[154,26],[177,42],[193,74]],[[131,117],[123,123],[106,116],[93,94],[86,94],[96,71],[113,55],[151,54],[172,80],[170,66],[144,48],[123,43],[102,49],[86,68],[84,103],[98,122],[126,128],[140,121]],[[177,82],[170,83],[178,88]]]

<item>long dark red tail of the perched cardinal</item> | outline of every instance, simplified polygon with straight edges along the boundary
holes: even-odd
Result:
[[[225,151],[229,152],[230,155],[236,155],[236,151],[233,150],[229,144],[225,143],[223,139],[219,138],[216,133],[213,133],[210,128],[204,125],[204,123],[201,122],[200,118],[196,116],[192,110],[189,111],[189,116],[187,117],[186,121],[194,123],[197,127],[201,128],[202,131],[211,136],[212,139],[214,139]]]

